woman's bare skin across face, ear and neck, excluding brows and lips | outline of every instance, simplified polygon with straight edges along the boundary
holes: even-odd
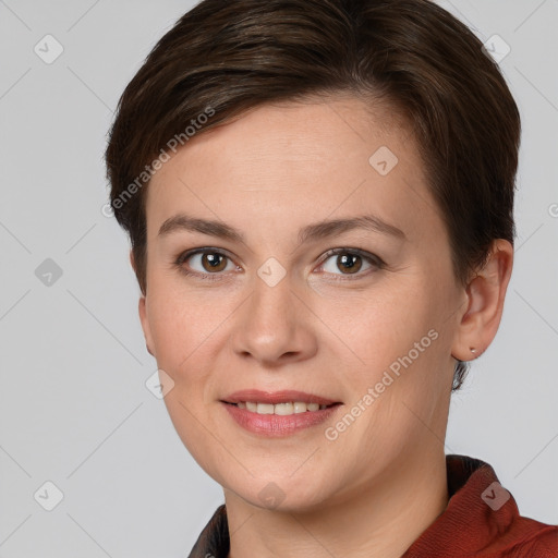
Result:
[[[174,383],[165,397],[174,427],[223,487],[230,557],[400,557],[447,505],[456,359],[492,342],[513,252],[495,241],[485,268],[457,283],[413,138],[390,114],[351,97],[259,107],[193,137],[148,186],[141,322]],[[399,159],[387,175],[368,162],[380,146]],[[179,213],[226,222],[245,242],[158,234]],[[298,245],[302,227],[364,214],[405,239],[352,230]],[[228,256],[217,280],[201,278],[216,271],[199,255],[175,263],[198,247]],[[336,247],[386,265],[356,258],[362,267],[351,274],[325,256]],[[257,275],[270,257],[287,274],[274,287]],[[433,329],[437,339],[328,439],[325,429]],[[325,424],[268,438],[241,428],[220,403],[246,388],[298,389],[343,405]],[[269,483],[275,504],[259,496]]]

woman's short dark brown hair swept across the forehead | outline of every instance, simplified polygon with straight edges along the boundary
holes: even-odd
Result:
[[[184,145],[189,126],[203,133],[266,102],[339,93],[385,100],[411,125],[458,281],[485,264],[493,240],[513,244],[520,116],[459,20],[428,0],[203,0],[126,86],[106,150],[110,203],[144,294],[142,185],[169,141]],[[453,389],[466,371],[458,361]]]

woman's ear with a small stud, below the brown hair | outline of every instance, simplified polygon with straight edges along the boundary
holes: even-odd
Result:
[[[469,306],[451,348],[454,359],[474,360],[492,343],[500,325],[512,267],[513,246],[507,240],[495,240],[486,265],[477,270],[465,289]]]

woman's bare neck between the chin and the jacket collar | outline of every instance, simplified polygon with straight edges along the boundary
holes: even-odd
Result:
[[[435,458],[404,460],[373,485],[312,511],[262,509],[230,490],[225,496],[229,558],[400,558],[447,506],[446,458],[438,450]]]

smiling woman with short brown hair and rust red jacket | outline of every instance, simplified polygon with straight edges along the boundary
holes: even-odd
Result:
[[[558,556],[444,452],[501,318],[519,138],[425,0],[205,0],[156,45],[106,155],[167,409],[225,492],[190,556]]]

